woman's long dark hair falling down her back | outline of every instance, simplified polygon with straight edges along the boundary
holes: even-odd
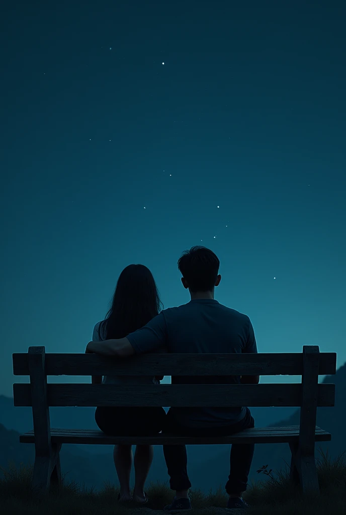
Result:
[[[112,305],[100,323],[102,339],[125,338],[141,329],[163,309],[159,290],[149,268],[129,265],[118,278]]]

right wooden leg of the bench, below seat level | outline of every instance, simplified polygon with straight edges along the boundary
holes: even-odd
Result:
[[[299,481],[303,493],[319,493],[320,488],[315,464],[315,454],[302,455],[298,442],[290,443],[289,447],[292,453],[290,479],[293,483]]]

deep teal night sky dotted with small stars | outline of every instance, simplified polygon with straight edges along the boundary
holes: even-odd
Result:
[[[217,254],[215,298],[250,317],[259,352],[346,361],[345,14],[2,7],[0,394],[28,380],[12,352],[84,352],[131,263],[165,308],[188,302],[177,260],[193,245]]]

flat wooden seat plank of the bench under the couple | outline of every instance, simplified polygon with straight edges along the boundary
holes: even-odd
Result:
[[[176,435],[153,436],[108,436],[102,431],[85,429],[50,429],[52,443],[88,443],[88,444],[139,444],[139,445],[177,445],[177,444],[231,444],[231,443],[290,443],[298,442],[299,425],[286,427],[253,427],[230,436],[189,437]],[[316,426],[315,441],[330,441],[331,433]],[[34,443],[33,430],[20,435],[21,443]]]

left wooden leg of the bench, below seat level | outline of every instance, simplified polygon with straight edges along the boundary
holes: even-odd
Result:
[[[51,479],[53,484],[61,485],[60,449],[61,443],[52,444],[50,456],[35,456],[31,486],[38,496],[49,493]]]

